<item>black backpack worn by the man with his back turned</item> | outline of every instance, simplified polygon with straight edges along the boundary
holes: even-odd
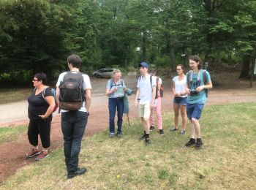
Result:
[[[83,73],[67,72],[59,86],[59,107],[63,110],[79,110],[85,100]]]

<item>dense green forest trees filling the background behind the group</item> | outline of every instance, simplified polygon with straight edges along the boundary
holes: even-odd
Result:
[[[197,54],[249,77],[255,9],[255,0],[1,0],[0,85],[26,86],[41,71],[56,80],[72,53],[88,74],[140,61],[174,70]]]

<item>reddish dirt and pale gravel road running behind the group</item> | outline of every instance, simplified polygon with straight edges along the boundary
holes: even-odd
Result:
[[[235,102],[256,102],[256,88],[247,88],[248,82],[237,79],[238,74],[229,73],[228,75],[213,75],[212,78],[219,84],[215,87],[208,97],[209,104],[227,104]],[[108,79],[91,78],[92,104],[90,109],[89,123],[86,127],[86,136],[108,129],[108,98],[104,96],[105,86]],[[136,86],[136,73],[129,73],[124,77],[127,87]],[[256,85],[256,84],[255,84]],[[164,97],[162,98],[162,111],[171,110],[173,96],[170,93],[170,78],[164,80]],[[133,107],[135,96],[129,96],[130,113],[129,118],[137,115],[137,110]],[[0,127],[18,126],[27,124],[27,103],[26,101],[14,104],[0,105]],[[99,116],[100,115],[100,116]],[[124,119],[126,119],[124,115]],[[63,137],[61,134],[60,115],[54,113],[51,127],[51,147],[50,149],[61,148]],[[167,131],[173,126],[172,118],[170,123],[164,123],[164,130]],[[8,176],[12,175],[18,168],[33,162],[34,159],[26,160],[25,153],[29,151],[30,145],[26,134],[20,134],[17,140],[0,144],[0,183]],[[10,153],[12,150],[12,153]]]

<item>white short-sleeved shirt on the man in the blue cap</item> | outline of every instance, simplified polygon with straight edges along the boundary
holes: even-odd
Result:
[[[157,85],[157,77],[152,77],[152,86],[156,86]],[[140,76],[138,78],[138,84],[137,84],[137,88],[140,89],[140,95],[139,95],[139,99],[140,99],[140,104],[148,104],[151,102],[152,100],[152,86],[150,83],[150,75],[147,74],[146,77]]]

